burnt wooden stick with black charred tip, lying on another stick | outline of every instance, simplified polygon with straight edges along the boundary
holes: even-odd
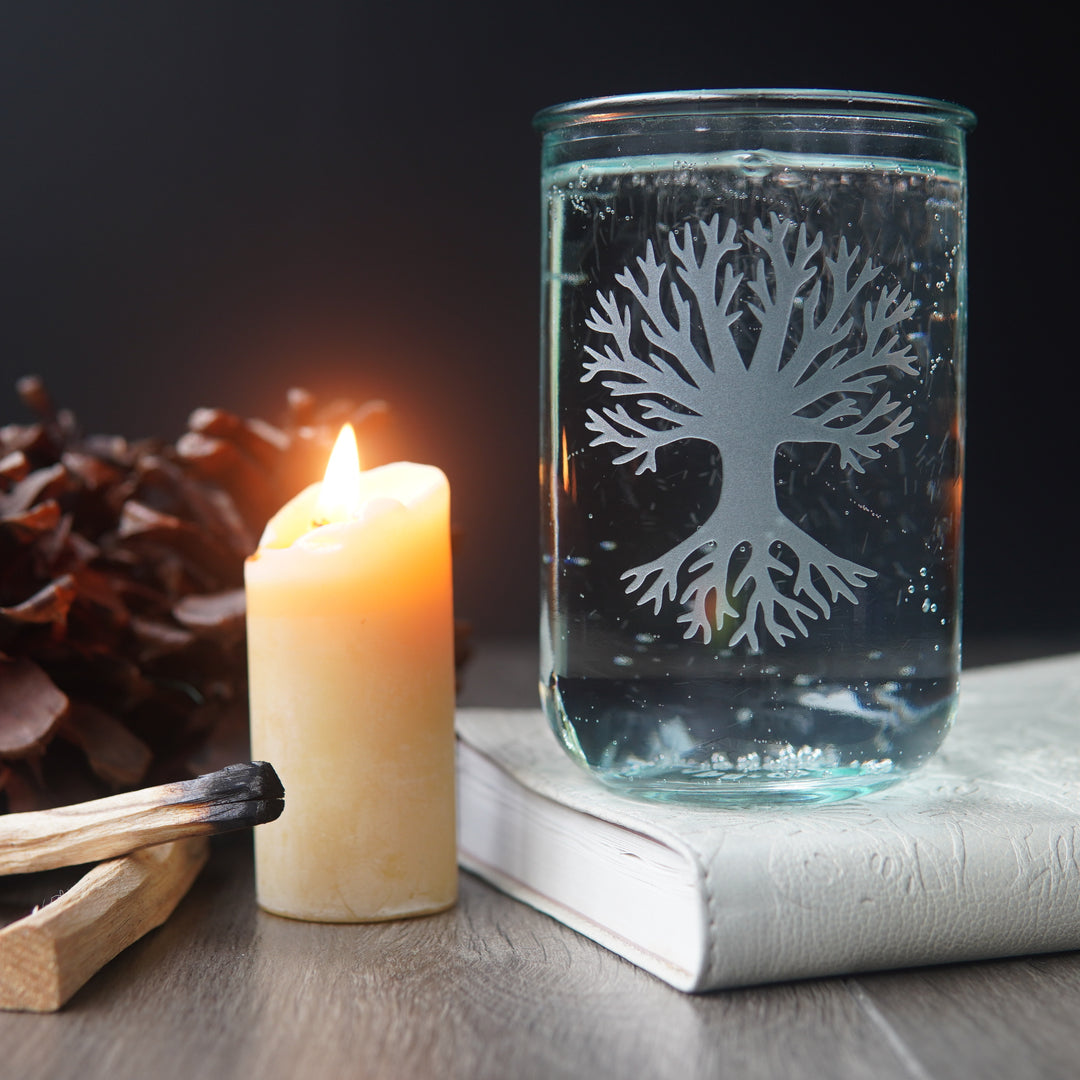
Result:
[[[273,821],[284,788],[266,761],[90,802],[0,816],[0,874],[75,866],[151,843]]]

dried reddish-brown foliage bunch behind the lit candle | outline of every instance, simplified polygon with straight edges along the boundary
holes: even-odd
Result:
[[[0,428],[0,810],[243,757],[244,558],[340,424],[387,406],[291,390],[281,427],[199,408],[175,444],[127,442],[17,387],[38,419]]]

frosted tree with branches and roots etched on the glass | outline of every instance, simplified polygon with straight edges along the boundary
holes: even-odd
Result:
[[[686,638],[707,644],[730,621],[729,644],[758,652],[759,624],[781,646],[807,637],[808,620],[828,619],[841,597],[858,604],[855,590],[877,576],[783,514],[775,459],[785,443],[823,443],[862,473],[896,448],[910,408],[879,383],[890,369],[917,374],[897,329],[916,305],[899,285],[869,288],[881,268],[860,261],[859,247],[841,239],[829,255],[821,233],[811,239],[775,214],[741,235],[729,220],[723,237],[716,215],[667,242],[671,259],[659,260],[650,241],[636,269],[616,276],[622,300],[597,291],[585,325],[608,340],[597,341],[603,351],[586,346],[581,380],[599,378],[612,401],[588,410],[590,445],[611,444],[615,463],[637,474],[654,472],[657,454],[681,440],[716,447],[712,513],[622,580],[654,613],[677,598]],[[756,334],[737,340],[746,316]]]

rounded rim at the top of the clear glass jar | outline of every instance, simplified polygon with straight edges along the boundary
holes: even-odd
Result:
[[[532,118],[540,133],[590,121],[694,116],[698,113],[783,113],[923,120],[971,131],[975,113],[962,105],[934,97],[848,90],[680,90],[646,94],[616,94],[565,102],[541,109]]]

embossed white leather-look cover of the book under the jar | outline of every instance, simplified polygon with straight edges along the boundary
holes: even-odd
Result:
[[[459,859],[685,990],[1080,948],[1080,656],[966,673],[960,701],[941,752],[895,787],[740,810],[620,797],[539,711],[459,711],[459,739],[502,770],[507,794],[522,785],[580,814],[579,842],[599,819],[689,860],[707,919],[692,970],[612,934],[603,909],[549,895],[554,879],[527,861],[508,875],[473,858],[476,831],[490,839],[498,821],[463,812]]]

